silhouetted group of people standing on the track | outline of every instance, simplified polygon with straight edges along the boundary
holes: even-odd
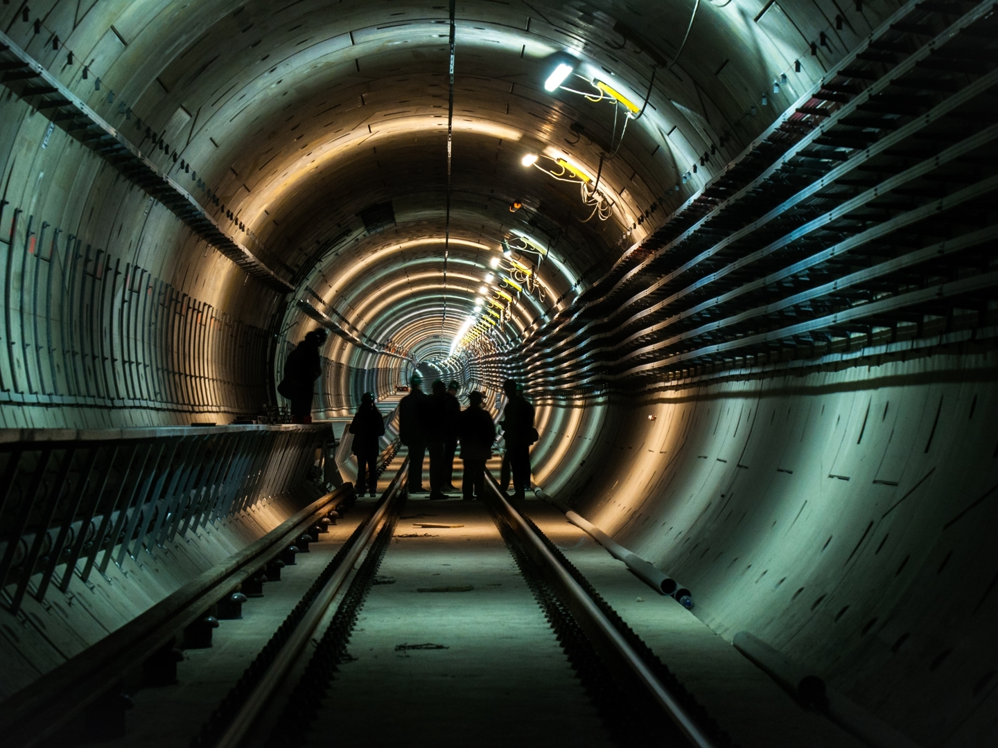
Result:
[[[469,405],[463,411],[457,399],[457,382],[445,385],[437,380],[432,394],[422,391],[422,378],[415,374],[410,392],[398,405],[399,438],[409,451],[408,491],[425,493],[422,486],[423,462],[430,457],[430,499],[448,499],[445,492],[457,491],[453,485],[454,457],[460,444],[464,463],[461,494],[464,499],[481,498],[485,491],[485,464],[492,457],[496,426],[492,416],[482,407],[484,395],[472,392]],[[506,380],[503,386],[507,403],[503,410],[503,435],[506,456],[513,474],[515,497],[524,498],[530,488],[530,445],[537,440],[534,430],[534,407],[517,390],[516,382]],[[374,406],[372,395],[365,394],[360,408],[350,424],[353,453],[357,456],[357,491],[368,486],[376,492],[377,439],[384,434],[384,422]]]

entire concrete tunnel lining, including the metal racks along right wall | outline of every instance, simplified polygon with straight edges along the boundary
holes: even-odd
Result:
[[[523,378],[536,485],[694,589],[717,633],[918,744],[993,739],[993,3],[459,2],[449,175],[446,5],[25,7],[0,7],[12,44],[294,290],[5,78],[0,425],[278,418],[307,301],[381,346],[330,335],[316,419],[417,362],[489,403]],[[544,90],[556,53],[647,96],[619,148],[616,105]],[[598,174],[608,218],[527,154]],[[543,298],[451,353],[517,236],[547,253],[516,255]],[[31,667],[99,628],[62,653],[33,632]]]

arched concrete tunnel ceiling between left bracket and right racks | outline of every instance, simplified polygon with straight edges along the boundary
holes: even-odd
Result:
[[[153,161],[179,180],[181,167],[193,166],[219,198],[209,211],[222,223],[231,213],[230,227],[243,224],[252,251],[299,297],[314,291],[316,304],[355,330],[419,355],[445,352],[420,341],[433,329],[453,335],[511,231],[561,263],[541,266],[546,298],[522,301],[512,329],[564,308],[740,153],[820,75],[823,57],[840,55],[890,10],[849,14],[798,74],[791,48],[806,44],[761,33],[756,22],[769,7],[761,2],[703,2],[695,17],[693,2],[457,3],[444,278],[446,4],[95,7],[125,47],[107,51],[114,39],[106,35],[86,56],[90,65],[117,92],[116,106],[128,103],[180,157],[172,163],[153,152]],[[816,16],[808,23],[827,25]],[[606,79],[638,103],[648,96],[602,168],[623,118],[615,126],[613,106],[544,90],[552,55],[566,51],[587,78]],[[782,90],[770,92],[782,73]],[[80,84],[79,70],[66,75]],[[762,95],[767,106],[756,107]],[[91,99],[99,113],[110,109],[102,96]],[[699,156],[712,152],[693,175]],[[590,208],[578,187],[525,168],[527,153],[562,155],[599,173],[615,203],[611,217],[584,221]],[[689,185],[681,181],[688,171]],[[365,230],[362,211],[382,202],[391,203],[394,224]],[[511,212],[514,202],[523,207]]]

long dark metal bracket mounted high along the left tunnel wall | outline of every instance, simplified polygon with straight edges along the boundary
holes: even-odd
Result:
[[[3,86],[166,205],[244,272],[279,293],[294,290],[291,283],[230,236],[194,195],[165,175],[117,128],[105,122],[3,33],[0,33],[0,69],[5,71],[0,79]]]

